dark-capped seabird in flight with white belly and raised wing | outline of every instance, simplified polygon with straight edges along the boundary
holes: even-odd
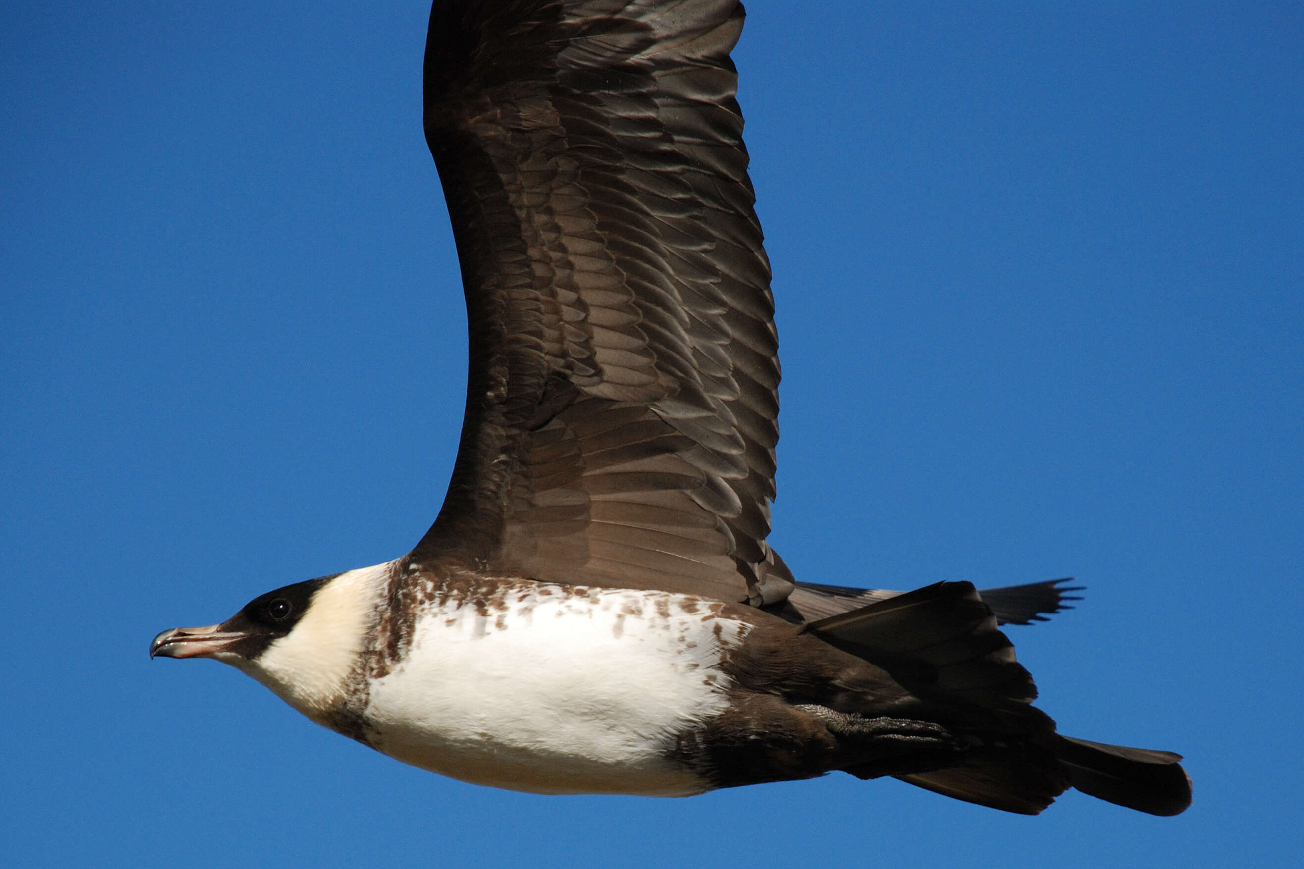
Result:
[[[998,623],[1059,582],[797,582],[767,543],[769,264],[735,0],[437,0],[425,133],[469,322],[438,519],[151,655],[214,658],[443,775],[687,796],[835,770],[1035,814],[1176,814],[1170,752],[1061,736]]]

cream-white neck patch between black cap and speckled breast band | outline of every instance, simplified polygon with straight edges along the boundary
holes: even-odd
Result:
[[[340,573],[313,595],[288,636],[273,641],[254,661],[230,655],[227,663],[271,688],[318,724],[326,724],[322,714],[335,707],[348,691],[391,565],[393,562],[386,562]]]

